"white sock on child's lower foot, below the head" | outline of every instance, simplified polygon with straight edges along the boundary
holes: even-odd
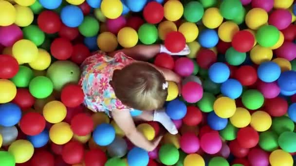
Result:
[[[170,119],[169,116],[166,115],[165,109],[162,110],[155,110],[153,121],[157,121],[161,123],[166,130],[171,134],[177,134],[178,130],[174,124],[174,122]]]

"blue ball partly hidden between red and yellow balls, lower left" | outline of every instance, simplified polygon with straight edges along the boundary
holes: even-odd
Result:
[[[46,129],[44,129],[43,132],[37,135],[27,136],[27,139],[32,143],[34,148],[41,148],[48,143],[49,133]]]

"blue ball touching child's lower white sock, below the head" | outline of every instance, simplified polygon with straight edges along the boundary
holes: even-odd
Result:
[[[178,99],[169,101],[166,105],[166,114],[173,120],[182,119],[187,113],[187,107]]]

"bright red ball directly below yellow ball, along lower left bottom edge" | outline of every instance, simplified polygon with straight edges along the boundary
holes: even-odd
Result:
[[[67,164],[82,162],[84,155],[83,145],[77,141],[70,141],[63,147],[62,158]]]

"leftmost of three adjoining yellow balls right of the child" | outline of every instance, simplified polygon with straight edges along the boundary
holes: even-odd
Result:
[[[214,102],[214,111],[217,116],[222,118],[228,118],[234,115],[237,106],[235,100],[228,97],[221,97]]]

